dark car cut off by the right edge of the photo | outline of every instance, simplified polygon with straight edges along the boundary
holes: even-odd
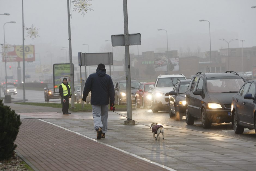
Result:
[[[232,125],[236,134],[243,133],[245,128],[256,132],[256,80],[247,81],[239,92],[232,97]]]

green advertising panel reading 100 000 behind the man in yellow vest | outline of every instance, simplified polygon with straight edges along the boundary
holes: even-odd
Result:
[[[73,69],[74,69],[74,64]],[[74,71],[73,71],[74,73]],[[55,63],[53,64],[53,89],[54,93],[59,93],[59,86],[62,83],[63,78],[66,77],[70,80],[70,65],[69,63]]]

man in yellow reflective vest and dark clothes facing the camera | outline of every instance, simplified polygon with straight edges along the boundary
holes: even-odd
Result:
[[[71,88],[68,84],[67,78],[63,78],[62,84],[59,86],[59,93],[62,100],[62,112],[63,115],[71,114],[68,112],[69,109],[69,98],[71,98]]]

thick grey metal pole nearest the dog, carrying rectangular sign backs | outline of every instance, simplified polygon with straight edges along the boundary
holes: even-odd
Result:
[[[135,125],[135,121],[132,120],[132,92],[131,92],[131,75],[130,75],[130,53],[129,53],[130,50],[129,50],[127,0],[123,0],[123,8],[124,8],[124,51],[125,51],[126,109],[127,109],[127,121],[125,122],[125,124]]]

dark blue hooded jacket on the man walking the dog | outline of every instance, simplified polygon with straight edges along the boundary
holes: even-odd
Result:
[[[108,105],[115,103],[115,90],[111,77],[106,74],[106,71],[100,69],[96,73],[89,75],[86,80],[83,96],[87,97],[91,91],[92,105]]]

